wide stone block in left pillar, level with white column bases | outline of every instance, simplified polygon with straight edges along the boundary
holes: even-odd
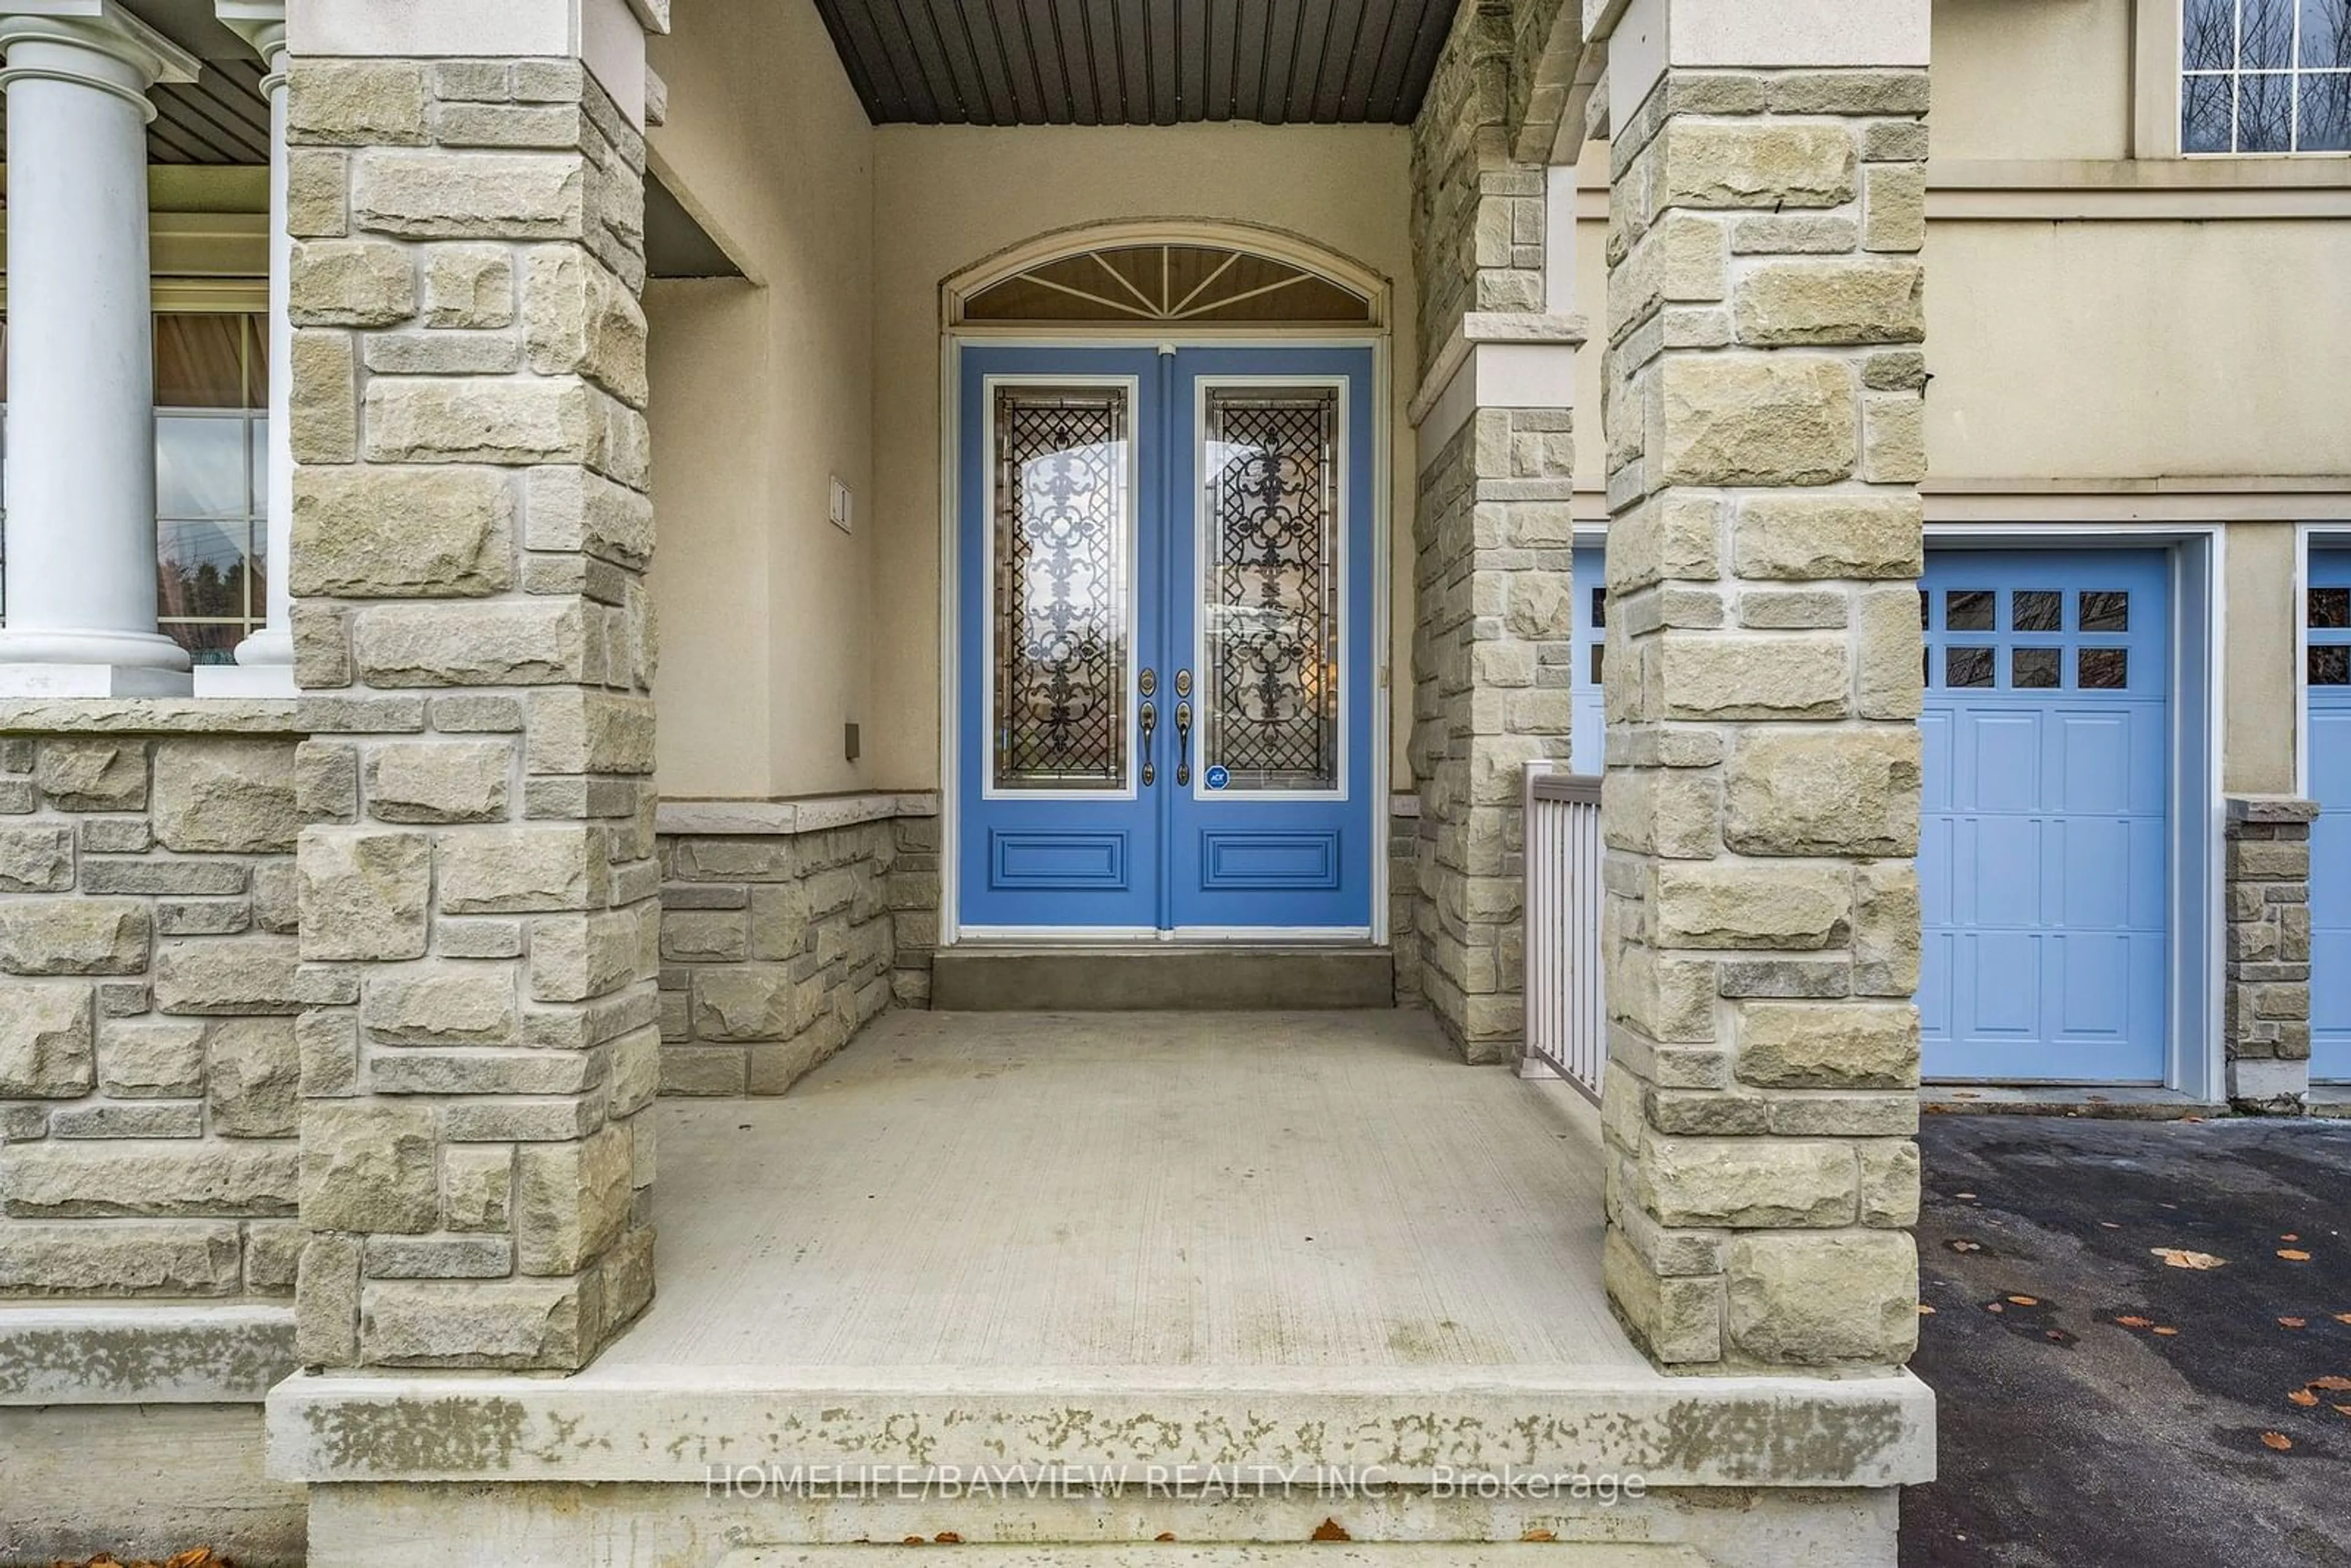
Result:
[[[581,679],[588,632],[578,599],[383,604],[353,628],[374,686],[536,686]]]

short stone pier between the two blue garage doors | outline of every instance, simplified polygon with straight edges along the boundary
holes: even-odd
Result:
[[[2311,823],[2318,802],[2229,797],[2229,1105],[2299,1117],[2311,1091]]]

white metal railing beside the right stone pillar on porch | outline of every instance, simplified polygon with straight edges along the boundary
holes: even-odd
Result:
[[[1526,1067],[1601,1098],[1601,780],[1526,771]]]

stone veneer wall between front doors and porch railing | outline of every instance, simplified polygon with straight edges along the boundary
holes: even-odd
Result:
[[[1465,7],[1413,125],[1425,367],[1465,341],[1568,339],[1540,315],[1545,172],[1505,150],[1514,49],[1509,5]],[[1570,409],[1476,409],[1418,480],[1418,983],[1474,1063],[1521,1048],[1521,776],[1568,757],[1573,425]]]

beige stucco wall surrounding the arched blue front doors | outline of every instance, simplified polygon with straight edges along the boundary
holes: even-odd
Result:
[[[884,127],[875,134],[875,576],[870,769],[889,788],[938,783],[938,287],[1039,233],[1110,219],[1223,219],[1305,235],[1394,282],[1413,320],[1406,132],[1357,127]],[[1411,614],[1411,334],[1392,390],[1394,625]],[[1394,661],[1408,668],[1411,642]],[[1411,715],[1399,712],[1399,778]]]

